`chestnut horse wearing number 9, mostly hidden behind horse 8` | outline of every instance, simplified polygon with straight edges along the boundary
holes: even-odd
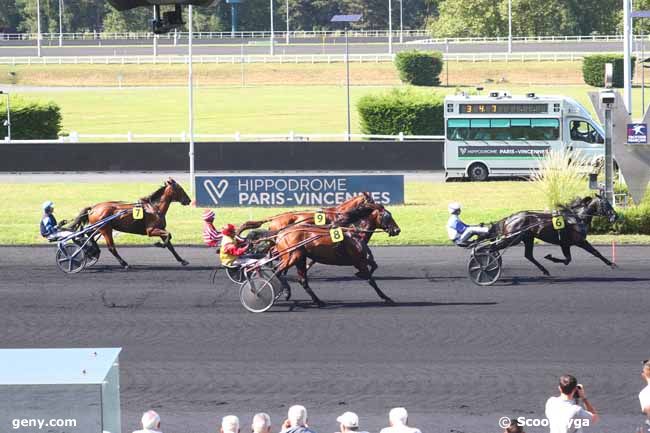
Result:
[[[354,196],[338,206],[320,209],[319,212],[325,214],[326,224],[330,224],[341,214],[344,214],[352,209],[356,209],[364,203],[374,203],[374,200],[372,199],[372,196],[369,192],[363,192],[357,196]],[[256,229],[265,223],[269,223],[268,229],[270,231],[282,230],[289,225],[295,224],[314,224],[314,212],[315,211],[285,212],[263,220],[247,221],[239,227],[237,235],[246,230]]]

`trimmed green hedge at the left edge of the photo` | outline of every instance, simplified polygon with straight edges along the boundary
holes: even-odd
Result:
[[[0,95],[0,140],[7,136],[7,99]],[[11,97],[11,138],[56,139],[61,131],[61,109],[54,102]]]

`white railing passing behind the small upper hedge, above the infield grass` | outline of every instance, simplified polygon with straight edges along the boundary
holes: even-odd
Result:
[[[587,53],[445,53],[443,58],[450,62],[526,62],[526,61],[577,61]],[[277,54],[271,55],[195,55],[197,64],[253,64],[253,63],[340,63],[344,54]],[[0,65],[147,65],[186,64],[187,56],[47,56],[47,57],[0,57]],[[392,62],[394,54],[350,54],[350,62],[380,63]]]

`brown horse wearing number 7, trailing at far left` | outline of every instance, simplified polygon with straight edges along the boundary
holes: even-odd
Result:
[[[129,265],[117,253],[115,243],[113,242],[113,230],[136,235],[147,235],[149,237],[160,237],[162,243],[157,242],[156,246],[167,248],[176,260],[185,266],[188,262],[178,255],[171,242],[171,233],[165,230],[167,225],[165,215],[173,202],[179,202],[183,206],[187,206],[191,200],[183,190],[183,187],[174,179],[169,178],[163,186],[151,195],[141,198],[137,203],[107,201],[83,209],[72,224],[72,228],[76,230],[85,224],[95,224],[111,215],[125,210],[130,211],[124,212],[99,229],[99,232],[106,240],[108,250],[120,262],[120,265],[124,269],[129,268]],[[133,208],[135,207],[141,207],[143,209],[143,218],[134,218]]]

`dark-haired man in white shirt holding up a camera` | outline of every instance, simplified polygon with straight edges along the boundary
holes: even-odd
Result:
[[[550,433],[580,432],[581,427],[598,422],[596,409],[587,400],[584,387],[578,384],[574,376],[560,376],[558,389],[560,395],[550,397],[546,401],[546,418],[549,421]],[[584,408],[580,404],[581,401]]]

